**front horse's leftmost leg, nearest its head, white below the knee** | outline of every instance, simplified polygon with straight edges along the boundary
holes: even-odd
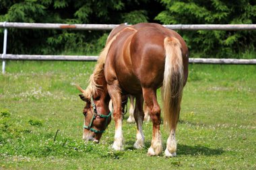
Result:
[[[114,106],[113,117],[115,120],[115,140],[112,147],[115,151],[123,151],[123,115],[121,91],[117,82],[115,82],[113,85],[108,85],[107,87]]]

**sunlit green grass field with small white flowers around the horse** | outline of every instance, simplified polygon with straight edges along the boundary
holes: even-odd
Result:
[[[84,107],[71,83],[86,87],[95,62],[7,62],[0,75],[0,169],[256,169],[256,66],[189,65],[175,158],[111,149],[114,122],[100,144],[82,141]],[[160,100],[160,93],[158,93]],[[127,119],[125,116],[125,119]],[[58,132],[57,132],[58,130]],[[164,147],[168,134],[162,128]]]

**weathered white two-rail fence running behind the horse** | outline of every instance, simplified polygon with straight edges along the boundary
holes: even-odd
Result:
[[[119,25],[115,24],[39,24],[39,23],[18,23],[0,22],[0,28],[4,28],[3,38],[3,60],[2,72],[5,73],[5,60],[97,60],[98,56],[57,56],[57,55],[26,55],[6,54],[7,29],[69,29],[69,30],[112,30]],[[199,25],[163,25],[172,30],[256,30],[256,24],[199,24]],[[256,59],[227,59],[227,58],[189,58],[191,63],[201,64],[244,64],[255,65]]]

